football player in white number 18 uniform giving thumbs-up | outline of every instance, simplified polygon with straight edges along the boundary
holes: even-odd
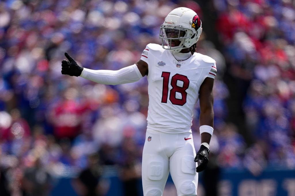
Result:
[[[145,196],[161,196],[169,171],[178,196],[197,195],[198,172],[209,161],[213,134],[215,60],[196,52],[202,32],[191,9],[172,10],[160,26],[162,46],[148,44],[135,64],[117,71],[80,67],[68,53],[62,74],[81,76],[100,84],[125,84],[148,78],[148,126],[142,153]],[[196,153],[191,125],[194,104],[200,102],[201,147]]]

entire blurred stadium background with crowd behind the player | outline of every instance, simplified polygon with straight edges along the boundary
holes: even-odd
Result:
[[[203,23],[217,61],[214,137],[199,196],[295,195],[295,3],[291,0],[0,2],[0,195],[142,195],[147,79],[64,76],[134,64],[176,7]],[[192,130],[200,144],[199,107]],[[164,196],[176,196],[169,177]]]

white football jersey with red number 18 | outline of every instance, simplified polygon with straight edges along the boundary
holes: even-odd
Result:
[[[200,86],[206,77],[215,78],[215,60],[195,52],[178,62],[158,44],[148,44],[141,60],[148,64],[147,127],[165,133],[191,132]]]

